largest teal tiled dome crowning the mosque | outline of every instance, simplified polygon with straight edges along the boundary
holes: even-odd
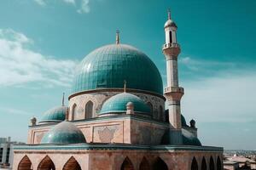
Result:
[[[160,72],[146,54],[125,44],[111,44],[88,54],[75,71],[73,93],[97,88],[127,88],[163,94]]]

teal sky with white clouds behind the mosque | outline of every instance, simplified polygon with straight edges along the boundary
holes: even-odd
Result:
[[[0,1],[0,136],[26,141],[32,116],[61,105],[73,69],[115,41],[148,54],[166,84],[166,9],[176,22],[182,112],[201,142],[256,150],[255,0]],[[66,101],[67,103],[67,101]]]

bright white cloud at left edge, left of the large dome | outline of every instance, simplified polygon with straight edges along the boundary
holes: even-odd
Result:
[[[40,86],[70,86],[76,62],[55,59],[28,48],[33,41],[13,30],[0,29],[0,87],[39,82]]]

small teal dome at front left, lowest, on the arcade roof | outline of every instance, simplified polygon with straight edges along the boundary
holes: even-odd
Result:
[[[84,134],[72,122],[60,122],[44,134],[41,144],[84,144]]]

